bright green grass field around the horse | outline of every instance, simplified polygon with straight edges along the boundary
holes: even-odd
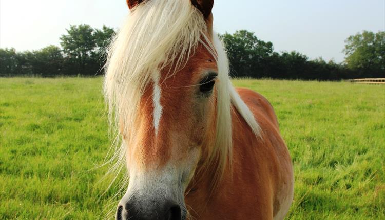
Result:
[[[112,187],[101,78],[0,78],[0,219],[100,219]],[[276,109],[295,169],[287,219],[385,219],[385,86],[235,80]],[[114,205],[113,205],[114,206]]]

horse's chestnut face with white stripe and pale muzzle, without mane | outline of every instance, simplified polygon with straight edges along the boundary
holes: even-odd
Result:
[[[125,142],[130,181],[117,219],[185,219],[186,188],[214,141],[214,58],[199,46],[181,71],[169,73],[146,88],[135,137]]]

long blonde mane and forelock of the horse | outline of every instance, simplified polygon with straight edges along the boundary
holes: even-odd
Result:
[[[254,133],[259,134],[253,114],[230,82],[221,40],[214,34],[211,43],[206,34],[205,20],[190,0],[145,1],[128,15],[109,48],[103,84],[114,137],[110,159],[114,165],[110,172],[126,170],[126,146],[121,133],[126,135],[127,142],[134,137],[132,127],[140,114],[138,106],[146,85],[159,79],[161,70],[167,66],[175,67],[169,74],[177,74],[200,43],[215,57],[218,65],[216,142],[211,152],[211,159],[219,163],[218,179],[232,158],[232,106]],[[128,178],[124,180],[122,189]]]

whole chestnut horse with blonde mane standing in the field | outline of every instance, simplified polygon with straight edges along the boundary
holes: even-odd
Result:
[[[272,105],[230,81],[214,0],[127,5],[103,82],[111,169],[129,177],[115,218],[283,219],[290,154]]]

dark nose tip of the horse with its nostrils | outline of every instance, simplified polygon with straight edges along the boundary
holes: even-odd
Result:
[[[182,210],[176,202],[168,201],[163,205],[151,201],[151,205],[140,205],[138,201],[129,201],[117,209],[117,220],[182,220]]]

